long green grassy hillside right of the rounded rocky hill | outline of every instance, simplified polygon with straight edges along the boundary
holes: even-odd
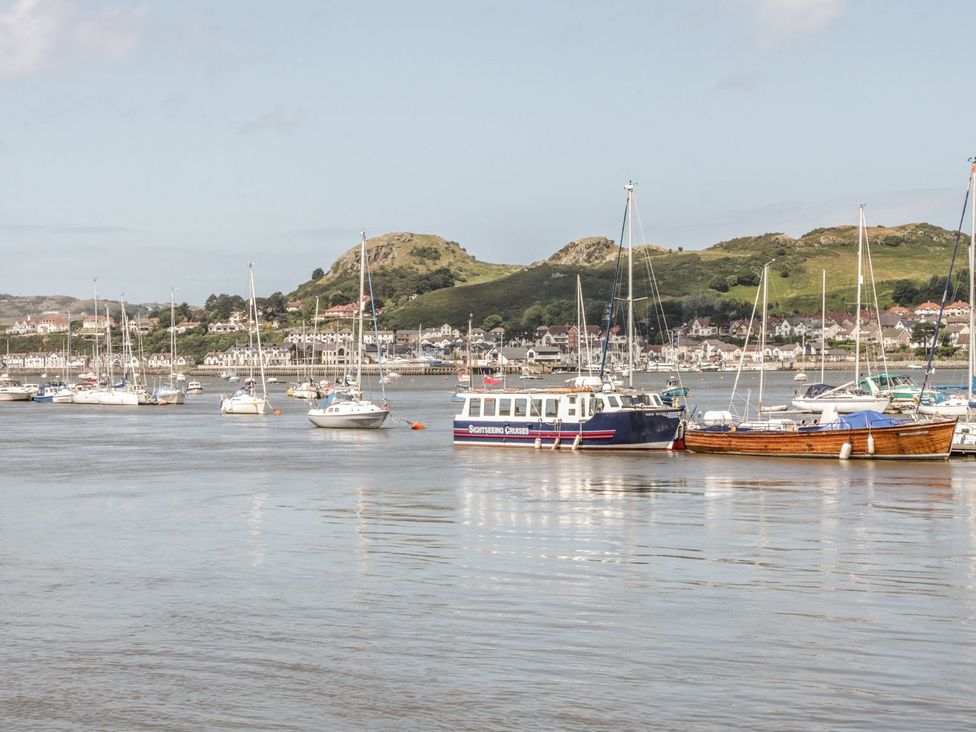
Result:
[[[892,304],[894,283],[911,279],[922,283],[948,269],[955,233],[929,224],[874,227],[868,230],[871,263],[882,307]],[[593,251],[581,251],[581,243]],[[542,263],[526,267],[491,283],[467,284],[428,292],[388,312],[390,327],[416,327],[420,322],[461,325],[468,313],[475,322],[491,314],[508,325],[529,325],[540,305],[544,319],[575,320],[575,275],[583,280],[588,321],[602,313],[609,298],[615,252],[602,238],[573,242]],[[748,315],[764,262],[773,260],[770,301],[774,313],[818,312],[821,271],[827,272],[828,308],[853,310],[857,267],[857,229],[816,229],[793,239],[771,233],[721,242],[700,251],[666,252],[656,247],[635,251],[635,297],[649,294],[653,266],[660,291],[670,301],[671,317],[694,314]],[[576,262],[575,266],[564,262]],[[865,264],[865,281],[870,282]],[[961,293],[960,293],[961,294]],[[870,293],[863,297],[868,302]],[[653,320],[647,303],[635,305],[639,318]],[[743,310],[746,312],[743,313]]]

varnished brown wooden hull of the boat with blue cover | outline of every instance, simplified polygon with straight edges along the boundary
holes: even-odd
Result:
[[[852,443],[851,459],[938,460],[949,456],[956,420],[847,430],[690,429],[685,448],[691,452],[762,457],[837,458]],[[868,452],[868,435],[874,452]]]

